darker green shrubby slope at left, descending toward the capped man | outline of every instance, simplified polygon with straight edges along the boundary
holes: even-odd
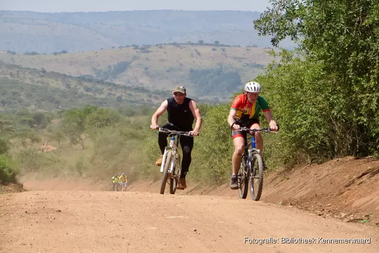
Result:
[[[44,69],[0,64],[0,110],[52,111],[85,104],[118,108],[156,106],[170,93],[73,77]]]

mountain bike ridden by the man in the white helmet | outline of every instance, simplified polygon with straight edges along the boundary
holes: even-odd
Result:
[[[234,123],[237,123],[235,121]],[[234,124],[233,123],[233,124]],[[241,124],[241,122],[239,122]],[[233,124],[231,127],[233,127]],[[278,130],[279,130],[279,125]],[[241,165],[238,171],[238,194],[240,198],[245,199],[248,195],[250,183],[250,195],[254,201],[258,201],[262,194],[263,189],[263,161],[261,158],[261,151],[255,148],[255,133],[266,132],[274,133],[270,128],[250,129],[245,126],[240,129],[241,132],[249,133],[251,135],[251,142],[248,143],[248,138],[245,139],[245,150],[242,154]],[[251,146],[251,148],[250,148]]]

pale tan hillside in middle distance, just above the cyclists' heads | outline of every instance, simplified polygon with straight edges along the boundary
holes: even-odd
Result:
[[[8,64],[74,76],[90,75],[149,90],[171,90],[174,85],[181,84],[189,88],[188,93],[192,96],[225,99],[240,90],[245,81],[262,73],[262,67],[272,59],[267,51],[253,47],[160,45],[57,55],[2,52],[0,59]],[[203,90],[208,86],[215,89]]]

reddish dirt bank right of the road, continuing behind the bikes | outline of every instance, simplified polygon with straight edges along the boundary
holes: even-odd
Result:
[[[177,194],[215,195],[238,198],[228,184],[208,188],[189,186]],[[158,192],[160,182],[135,184],[132,191]],[[251,200],[250,193],[247,199]],[[289,172],[264,176],[262,202],[308,210],[323,218],[346,222],[379,222],[379,161],[344,157],[323,164],[311,164]]]

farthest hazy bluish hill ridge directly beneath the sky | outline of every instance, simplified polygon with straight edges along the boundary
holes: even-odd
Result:
[[[242,11],[123,11],[37,13],[0,11],[0,50],[52,54],[127,45],[159,43],[220,43],[270,47],[253,21],[259,12]],[[281,45],[292,48],[291,41]]]

